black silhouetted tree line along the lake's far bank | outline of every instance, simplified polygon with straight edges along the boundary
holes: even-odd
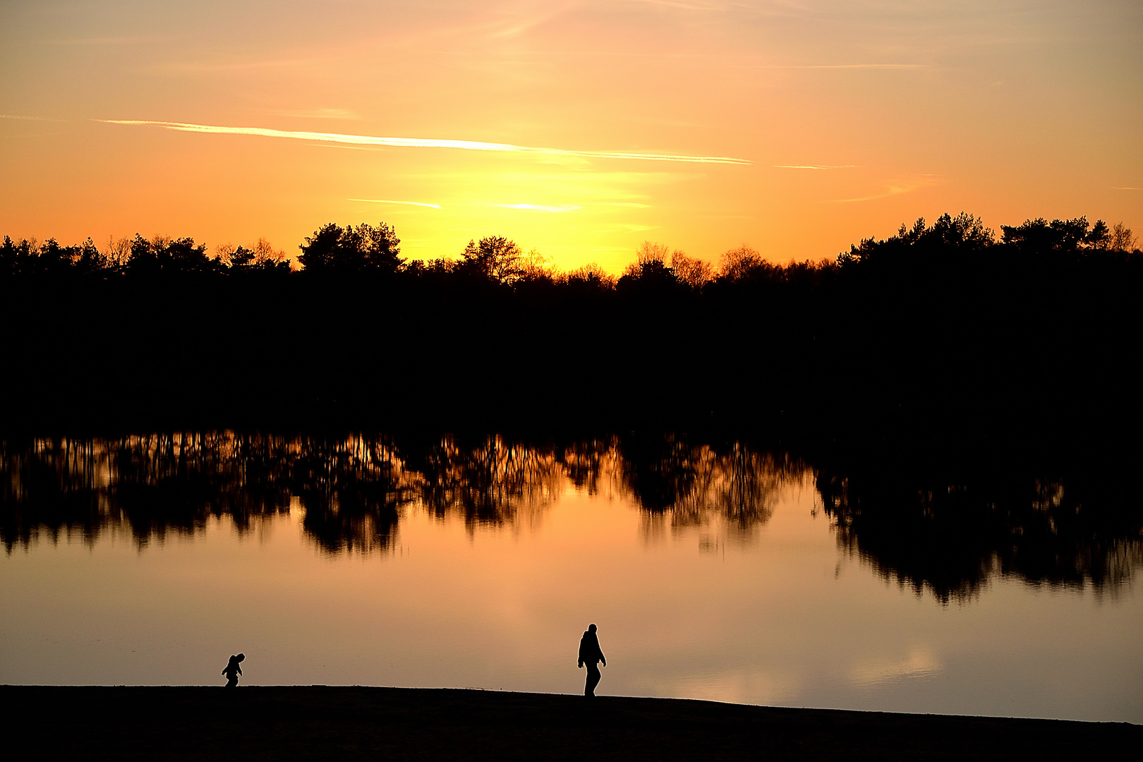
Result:
[[[1122,225],[924,219],[822,262],[645,243],[618,278],[503,236],[409,260],[384,223],[265,241],[6,238],[0,427],[768,432],[960,454],[1137,448]],[[999,457],[999,456],[998,456]]]

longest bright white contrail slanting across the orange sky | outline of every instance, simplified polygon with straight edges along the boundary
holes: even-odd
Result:
[[[189,125],[185,122],[157,122],[135,119],[96,119],[107,125],[142,125],[162,127],[183,133],[210,133],[213,135],[259,135],[262,137],[288,137],[295,141],[319,141],[322,143],[347,143],[352,145],[390,145],[409,149],[463,149],[465,151],[502,151],[512,153],[546,153],[560,157],[585,157],[592,159],[642,159],[646,161],[687,161],[704,165],[749,165],[745,159],[729,157],[686,157],[672,153],[629,153],[625,151],[565,151],[562,149],[537,149],[509,143],[481,143],[478,141],[446,141],[423,137],[375,137],[373,135],[342,135],[339,133],[304,133],[265,127],[215,127],[211,125]]]

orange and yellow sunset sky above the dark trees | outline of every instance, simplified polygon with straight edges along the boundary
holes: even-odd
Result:
[[[944,211],[1143,232],[1137,0],[9,0],[0,41],[14,238],[385,220],[618,270]]]

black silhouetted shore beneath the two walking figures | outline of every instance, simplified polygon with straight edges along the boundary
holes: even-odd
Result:
[[[0,687],[38,755],[118,759],[1015,760],[1143,748],[1143,725],[478,690]]]

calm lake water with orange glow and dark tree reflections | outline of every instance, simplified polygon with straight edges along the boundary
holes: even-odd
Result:
[[[0,682],[1143,722],[1137,499],[672,438],[3,443]],[[920,487],[918,487],[920,484]],[[1129,492],[1127,492],[1129,495]]]

